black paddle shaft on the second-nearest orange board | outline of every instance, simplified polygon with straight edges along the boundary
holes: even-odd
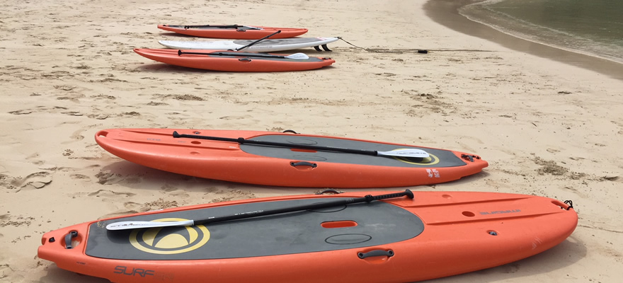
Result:
[[[274,142],[274,141],[253,141],[252,139],[244,139],[239,137],[238,139],[231,139],[227,137],[209,137],[209,136],[200,136],[198,134],[178,134],[177,131],[173,132],[173,137],[185,137],[190,139],[208,139],[212,141],[231,141],[237,142],[239,144],[259,144],[263,146],[279,146],[279,147],[287,147],[290,149],[312,149],[319,151],[338,151],[345,152],[348,154],[364,154],[371,156],[378,156],[377,151],[365,150],[365,149],[344,149],[341,147],[333,147],[333,146],[311,146],[307,144],[286,144],[282,142]]]

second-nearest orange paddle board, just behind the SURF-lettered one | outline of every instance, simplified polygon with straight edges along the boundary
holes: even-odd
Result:
[[[330,153],[295,148],[248,146],[236,142],[179,139],[180,134],[237,139],[335,144],[339,147],[391,151],[423,149],[434,158],[411,161],[388,156]],[[488,163],[459,151],[360,139],[280,132],[198,129],[105,129],[97,143],[127,161],[200,178],[288,187],[403,187],[457,180],[479,173]],[[466,157],[467,155],[467,157]],[[470,158],[471,156],[471,158]]]

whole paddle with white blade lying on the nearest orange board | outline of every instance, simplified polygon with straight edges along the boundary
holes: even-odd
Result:
[[[302,204],[295,207],[283,207],[278,209],[268,210],[256,210],[253,212],[239,212],[232,215],[224,216],[210,216],[204,219],[195,219],[187,221],[167,221],[167,222],[155,222],[155,221],[120,221],[106,225],[107,230],[127,230],[127,229],[142,229],[142,228],[154,228],[154,227],[169,227],[169,226],[195,226],[203,224],[211,224],[222,221],[230,221],[237,219],[246,219],[251,217],[266,216],[273,214],[282,214],[287,212],[300,212],[309,209],[321,209],[326,207],[337,207],[346,204],[354,204],[358,202],[372,202],[373,200],[384,200],[395,197],[408,197],[413,199],[413,192],[411,190],[405,190],[404,192],[395,192],[387,195],[366,195],[365,197],[348,198],[345,200],[333,200],[328,202],[316,202],[313,204]]]

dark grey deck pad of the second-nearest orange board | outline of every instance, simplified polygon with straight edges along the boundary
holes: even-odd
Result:
[[[306,137],[296,135],[267,134],[251,138],[253,141],[273,141],[286,144],[305,144],[313,146],[331,146],[343,149],[365,149],[371,151],[391,151],[394,149],[422,149],[430,154],[430,158],[394,158],[391,156],[367,156],[363,154],[347,154],[333,151],[292,151],[277,146],[261,146],[256,144],[241,144],[240,149],[248,154],[269,156],[302,161],[324,161],[331,163],[348,163],[375,166],[393,167],[423,167],[441,168],[464,166],[466,163],[452,151],[444,149],[425,149],[417,146],[395,146],[369,141],[353,141],[351,139],[335,139],[326,137]]]

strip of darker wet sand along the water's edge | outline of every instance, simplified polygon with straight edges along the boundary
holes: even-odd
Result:
[[[576,67],[596,71],[613,79],[623,81],[623,64],[609,59],[572,52],[545,45],[539,42],[517,37],[491,26],[473,21],[459,13],[459,9],[469,4],[476,4],[484,0],[428,0],[423,5],[425,15],[435,23],[455,30],[459,33],[479,37],[484,40],[495,42],[511,50],[525,52],[538,57],[553,59],[557,62],[571,64]]]

